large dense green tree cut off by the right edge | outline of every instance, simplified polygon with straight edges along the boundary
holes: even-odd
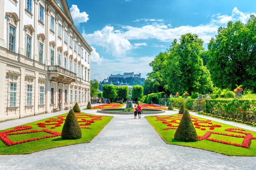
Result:
[[[236,84],[256,91],[256,18],[246,24],[228,22],[208,44],[208,68],[216,87],[235,89]]]

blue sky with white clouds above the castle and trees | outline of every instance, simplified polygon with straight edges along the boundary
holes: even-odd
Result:
[[[186,33],[207,43],[228,21],[246,23],[256,1],[67,0],[74,24],[92,47],[91,79],[110,74],[146,74],[159,52]]]

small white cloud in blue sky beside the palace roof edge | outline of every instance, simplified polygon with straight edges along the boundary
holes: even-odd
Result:
[[[79,27],[80,23],[86,23],[89,20],[89,15],[86,14],[86,12],[80,13],[80,10],[78,9],[77,5],[72,5],[72,7],[69,10],[75,26]]]

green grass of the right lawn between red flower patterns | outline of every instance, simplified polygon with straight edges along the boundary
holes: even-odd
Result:
[[[177,114],[161,115],[160,117],[166,117],[166,116],[177,116]],[[175,129],[163,130],[163,128],[168,127],[167,124],[163,124],[161,121],[155,121],[156,117],[146,116],[145,118],[166,143],[205,149],[205,150],[214,151],[214,152],[218,152],[218,153],[222,153],[230,156],[256,156],[256,139],[252,139],[250,149],[208,141],[208,140],[201,140],[197,142],[181,142],[181,141],[174,140],[174,133],[176,131]],[[196,118],[198,118],[199,120],[207,120],[199,117],[196,117]],[[171,121],[171,120],[167,119],[167,121]],[[241,133],[234,133],[234,132],[229,132],[225,130],[226,128],[237,128],[237,127],[222,124],[215,121],[211,121],[211,122],[212,124],[221,125],[222,127],[215,128],[214,130],[210,130],[209,127],[203,127],[203,128],[206,128],[206,130],[201,130],[196,128],[197,135],[202,136],[206,133],[206,131],[216,131],[216,132],[238,134],[238,135],[241,134]],[[178,125],[178,124],[172,123],[172,125]],[[201,124],[201,125],[206,125],[206,124]],[[250,132],[252,136],[256,136],[256,132],[254,131],[246,130],[246,132]],[[244,139],[244,138],[230,137],[230,136],[224,136],[224,135],[218,135],[218,134],[211,134],[209,138],[216,138],[217,140],[223,140],[223,141],[228,141],[231,143],[239,143],[239,144],[242,144]]]

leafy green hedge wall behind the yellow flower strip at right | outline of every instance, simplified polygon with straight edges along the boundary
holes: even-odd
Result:
[[[204,112],[243,121],[256,121],[255,99],[203,99],[201,108]]]

